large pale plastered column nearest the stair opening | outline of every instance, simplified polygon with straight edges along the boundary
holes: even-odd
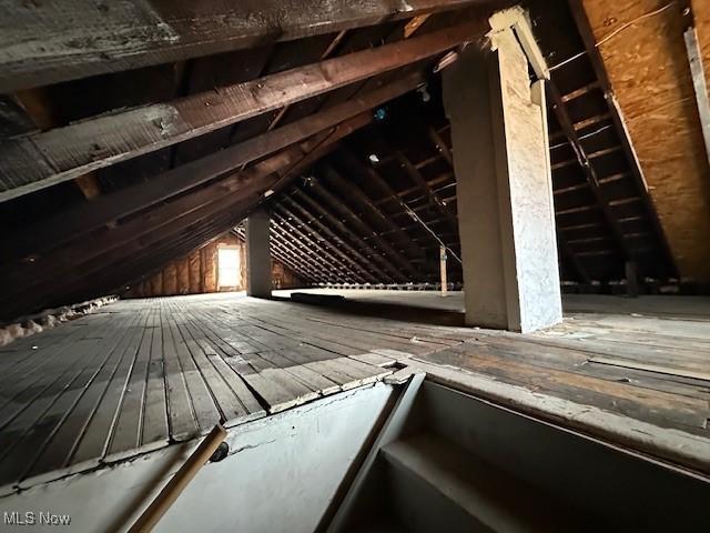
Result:
[[[519,10],[491,18],[491,50],[469,47],[444,71],[444,103],[466,323],[526,332],[559,322],[561,296],[544,82],[530,84],[521,23]]]

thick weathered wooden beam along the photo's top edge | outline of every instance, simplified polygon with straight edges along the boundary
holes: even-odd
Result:
[[[3,2],[0,92],[417,17],[484,0]]]

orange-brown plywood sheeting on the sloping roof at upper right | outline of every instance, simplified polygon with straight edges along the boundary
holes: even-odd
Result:
[[[597,42],[636,21],[599,50],[681,275],[710,281],[710,168],[683,17],[677,6],[647,16],[660,0],[582,3]]]

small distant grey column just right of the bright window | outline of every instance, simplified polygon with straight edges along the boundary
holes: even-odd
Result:
[[[246,294],[271,298],[271,250],[268,212],[263,209],[248,215],[246,230]]]

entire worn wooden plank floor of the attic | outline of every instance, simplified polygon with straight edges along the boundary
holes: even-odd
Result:
[[[0,349],[0,486],[234,426],[410,360],[710,436],[707,315],[571,313],[516,335],[436,325],[434,303],[383,314],[241,294],[128,300],[17,341]]]

